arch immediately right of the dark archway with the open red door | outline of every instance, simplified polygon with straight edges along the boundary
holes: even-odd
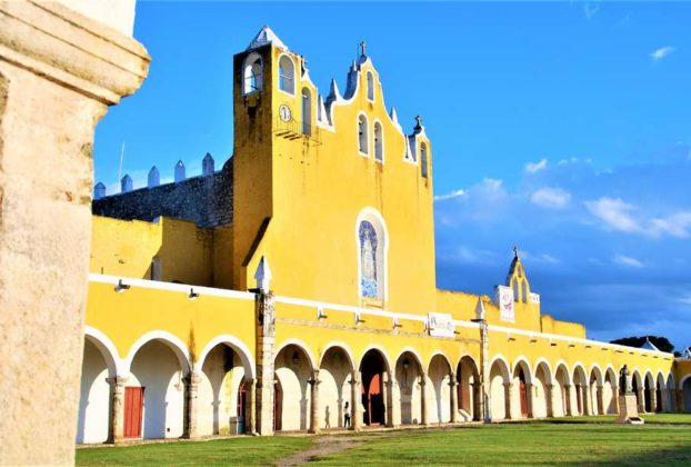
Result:
[[[398,425],[417,425],[422,423],[422,377],[424,367],[422,358],[418,351],[411,347],[405,347],[395,358],[395,380],[398,382],[398,394],[394,400],[400,405],[400,420],[394,420]]]

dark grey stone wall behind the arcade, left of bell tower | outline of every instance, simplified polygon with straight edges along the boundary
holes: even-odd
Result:
[[[152,221],[159,216],[189,220],[199,227],[232,222],[232,158],[213,175],[141,188],[93,200],[96,216]]]

